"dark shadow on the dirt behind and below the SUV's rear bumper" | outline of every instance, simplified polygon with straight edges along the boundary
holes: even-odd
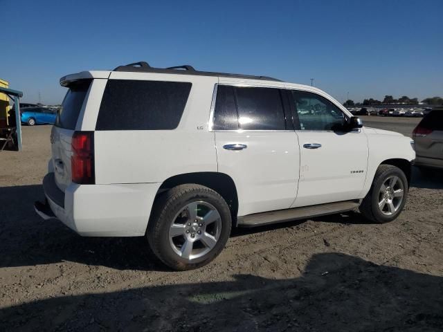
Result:
[[[0,267],[61,261],[119,270],[165,270],[144,237],[80,237],[57,220],[34,211],[43,200],[42,185],[0,187]]]

